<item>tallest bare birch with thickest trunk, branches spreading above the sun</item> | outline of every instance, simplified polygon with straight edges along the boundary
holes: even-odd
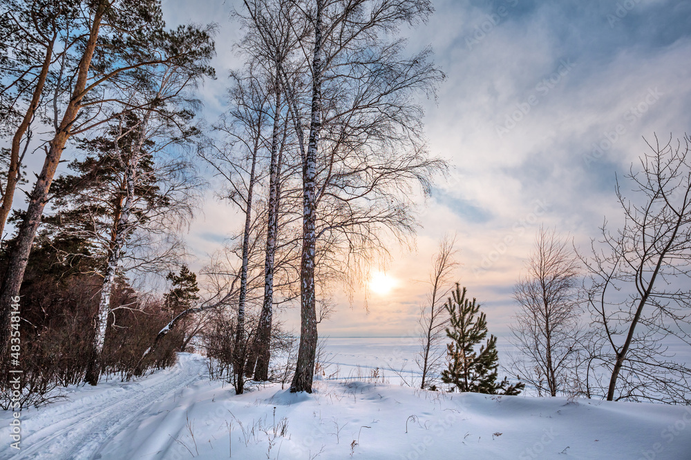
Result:
[[[363,249],[363,242],[375,241],[366,246],[381,248],[381,228],[412,231],[414,220],[397,192],[408,181],[419,181],[424,188],[427,174],[438,166],[424,158],[417,129],[422,110],[411,96],[433,93],[443,75],[429,63],[429,50],[406,59],[401,56],[404,41],[384,37],[431,12],[428,1],[296,2],[294,14],[306,19],[297,23],[307,23],[310,30],[301,39],[301,49],[311,70],[311,101],[309,122],[302,123],[295,100],[299,91],[286,91],[303,165],[301,338],[292,392],[312,391],[318,339],[317,242],[340,239],[353,249],[346,252],[348,259]],[[309,127],[306,145],[302,126]],[[408,163],[392,154],[406,147],[416,154]],[[385,157],[386,163],[379,163]],[[388,206],[386,198],[391,200]],[[362,206],[364,201],[369,206]],[[327,211],[318,212],[320,207]],[[320,226],[321,217],[326,218]]]

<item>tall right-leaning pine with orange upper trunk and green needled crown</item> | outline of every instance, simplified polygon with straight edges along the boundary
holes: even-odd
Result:
[[[62,3],[62,2],[59,2]],[[176,66],[213,74],[208,61],[214,52],[211,30],[180,26],[165,30],[159,0],[75,1],[61,36],[74,46],[54,61],[57,81],[50,94],[53,125],[44,146],[45,159],[29,195],[28,208],[10,252],[0,288],[0,352],[9,339],[12,299],[19,294],[26,263],[48,203],[50,185],[71,137],[102,126],[124,112],[155,110],[158,101],[133,105],[129,94],[152,81],[150,72]],[[50,23],[35,24],[42,34]]]

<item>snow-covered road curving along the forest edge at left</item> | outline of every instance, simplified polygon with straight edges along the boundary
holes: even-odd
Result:
[[[104,383],[78,388],[70,401],[22,412],[21,450],[0,446],[0,459],[99,459],[100,451],[151,406],[167,399],[207,374],[203,359],[180,354],[179,362],[163,372],[131,383]],[[117,384],[115,384],[117,383]],[[3,423],[3,425],[6,425]],[[9,439],[6,428],[2,439]]]

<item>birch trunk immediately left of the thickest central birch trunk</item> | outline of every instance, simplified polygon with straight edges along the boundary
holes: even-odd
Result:
[[[278,80],[278,79],[277,79]],[[269,212],[266,230],[266,251],[264,257],[264,301],[259,315],[257,333],[252,345],[252,359],[248,368],[254,367],[254,380],[269,379],[269,360],[271,359],[271,328],[274,303],[274,256],[276,255],[276,233],[278,231],[278,132],[281,128],[281,92],[276,84],[276,107],[274,110],[274,130],[271,142],[271,164],[269,166]],[[256,366],[254,365],[256,361]]]

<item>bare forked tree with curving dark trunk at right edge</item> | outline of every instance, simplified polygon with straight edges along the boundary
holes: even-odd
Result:
[[[647,143],[626,176],[631,199],[617,183],[623,226],[612,234],[605,221],[584,259],[596,332],[581,366],[588,396],[691,403],[691,369],[669,350],[691,344],[690,143]]]

